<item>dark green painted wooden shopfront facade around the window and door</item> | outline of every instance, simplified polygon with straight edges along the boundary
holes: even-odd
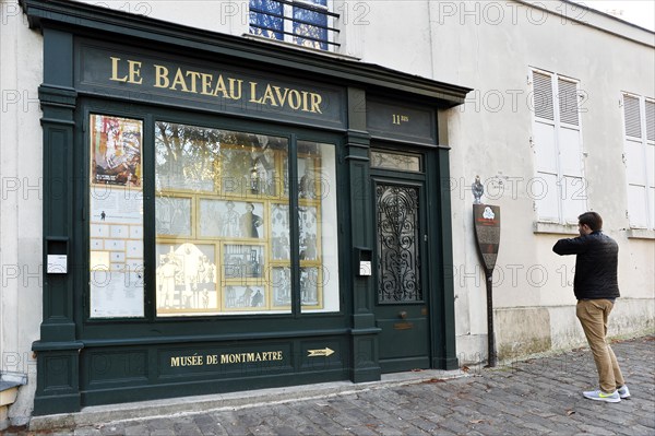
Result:
[[[21,4],[31,26],[44,37],[39,98],[44,180],[50,187],[44,192],[44,263],[48,254],[67,254],[69,267],[67,274],[45,274],[40,339],[33,345],[38,377],[35,414],[78,411],[91,404],[380,379],[380,347],[390,344],[379,342],[374,275],[359,275],[355,262],[362,250],[374,251],[371,146],[422,156],[420,181],[429,211],[425,226],[430,229],[425,260],[430,271],[426,365],[457,366],[453,284],[445,271],[452,264],[449,153],[438,120],[443,109],[463,103],[467,89],[81,3],[24,0]],[[115,55],[120,58],[117,80],[103,85],[103,74],[111,71],[110,64],[99,62],[110,52],[120,54]],[[323,97],[330,96],[330,106],[320,114],[311,106],[302,114],[255,110],[238,102],[147,87],[143,83],[155,79],[145,70],[130,85],[120,82],[130,74],[120,63],[127,56],[139,57],[144,64],[146,59],[164,59],[169,69],[184,66],[206,74],[221,72],[243,83],[265,80],[281,89],[320,90]],[[136,85],[141,79],[143,83]],[[393,104],[412,116],[390,119]],[[84,149],[87,116],[99,110],[143,119],[146,126],[165,115],[178,122],[200,119],[223,128],[286,135],[291,143],[336,144],[341,310],[303,314],[297,299],[288,315],[157,318],[155,291],[146,285],[143,318],[90,318]],[[401,128],[395,121],[402,121]],[[148,143],[147,130],[145,135]],[[145,161],[152,158],[147,153],[152,151],[144,150]],[[289,178],[295,172],[291,164]],[[152,174],[144,167],[146,220],[154,214]],[[155,257],[154,225],[148,225],[153,223],[145,223],[146,284],[155,279],[154,267],[147,264]],[[309,356],[310,350],[325,347],[334,353]]]

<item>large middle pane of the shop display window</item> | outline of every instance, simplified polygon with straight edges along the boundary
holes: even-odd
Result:
[[[288,141],[155,126],[158,316],[290,311]]]

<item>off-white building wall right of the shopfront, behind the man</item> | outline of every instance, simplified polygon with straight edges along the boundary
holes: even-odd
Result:
[[[619,105],[624,91],[655,96],[653,33],[562,1],[367,2],[366,12],[359,26],[347,26],[346,35],[357,27],[358,42],[346,38],[346,54],[474,89],[465,105],[449,110],[446,127],[460,358],[487,356],[486,287],[469,189],[476,175],[486,181],[483,200],[502,211],[493,280],[501,357],[584,343],[572,291],[575,259],[551,251],[576,228],[538,223],[535,210],[543,184],[531,141],[531,68],[580,81],[586,208],[604,216],[606,233],[620,245],[622,297],[610,333],[653,329],[655,235],[629,237]]]

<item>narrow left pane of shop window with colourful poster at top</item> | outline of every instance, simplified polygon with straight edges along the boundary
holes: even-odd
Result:
[[[143,317],[143,122],[90,121],[90,316]]]

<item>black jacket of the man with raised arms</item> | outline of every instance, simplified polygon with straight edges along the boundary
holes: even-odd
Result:
[[[552,247],[558,255],[577,255],[573,292],[577,299],[617,298],[619,246],[603,232],[560,239]]]

